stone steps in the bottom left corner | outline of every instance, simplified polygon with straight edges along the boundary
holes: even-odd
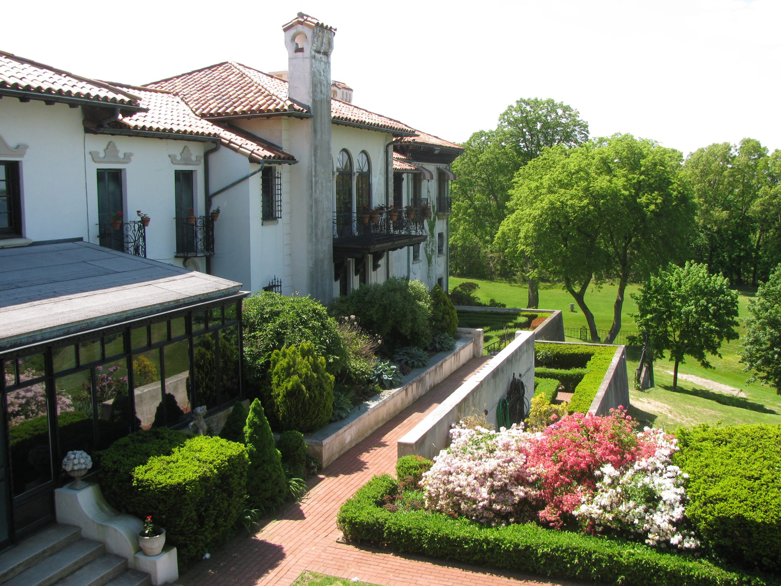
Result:
[[[0,554],[2,586],[151,586],[148,573],[81,538],[79,527],[52,525]]]

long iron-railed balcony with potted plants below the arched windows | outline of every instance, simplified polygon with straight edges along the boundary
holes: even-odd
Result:
[[[412,218],[405,209],[371,214],[340,212],[333,214],[333,255],[358,259],[412,246],[426,241],[423,209],[415,209]]]

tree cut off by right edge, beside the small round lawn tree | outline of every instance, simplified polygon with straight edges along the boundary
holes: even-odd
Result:
[[[748,313],[740,362],[758,375],[747,382],[759,378],[781,395],[781,265],[767,283],[759,285],[757,296],[748,302]]]

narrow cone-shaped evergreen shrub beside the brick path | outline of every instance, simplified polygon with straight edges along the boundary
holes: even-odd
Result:
[[[256,398],[249,407],[244,426],[249,470],[247,471],[248,505],[251,509],[276,506],[287,493],[280,452],[274,445],[269,421]]]

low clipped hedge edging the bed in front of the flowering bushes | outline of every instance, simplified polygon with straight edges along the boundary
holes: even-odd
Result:
[[[394,495],[393,477],[374,477],[341,506],[337,527],[353,541],[398,552],[548,577],[622,586],[763,586],[753,576],[692,556],[659,552],[629,541],[544,529],[533,523],[484,527],[425,510],[391,513],[381,504]]]

